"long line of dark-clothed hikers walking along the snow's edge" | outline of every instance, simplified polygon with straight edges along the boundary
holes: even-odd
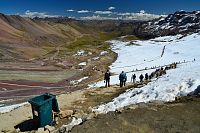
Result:
[[[153,71],[151,74],[148,74],[148,73],[146,73],[145,75],[141,74],[139,76],[139,80],[140,80],[140,82],[143,82],[143,81],[149,81],[154,77],[158,78],[159,76],[166,74],[166,70],[175,69],[176,65],[177,65],[177,63],[173,63],[173,64],[170,64],[169,66],[166,66],[165,68],[163,68],[163,67],[158,68],[155,71]],[[111,76],[111,73],[109,72],[109,70],[107,70],[107,72],[105,73],[105,76],[104,76],[104,82],[106,83],[105,87],[110,87],[110,76]],[[127,76],[124,71],[122,71],[119,74],[119,81],[120,81],[120,87],[123,87],[126,85]],[[136,83],[136,74],[132,74],[131,82]]]

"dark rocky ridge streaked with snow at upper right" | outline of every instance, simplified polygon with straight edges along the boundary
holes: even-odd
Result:
[[[200,11],[177,11],[165,18],[142,25],[146,36],[166,36],[194,33],[200,30]]]

